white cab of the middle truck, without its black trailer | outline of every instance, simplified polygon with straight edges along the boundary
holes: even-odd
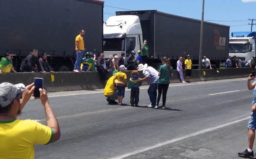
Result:
[[[140,19],[136,15],[111,16],[103,24],[103,51],[105,58],[117,53],[125,53],[125,57],[135,51],[135,59],[138,56],[138,50],[143,43],[142,28]],[[127,64],[127,58],[125,58]]]

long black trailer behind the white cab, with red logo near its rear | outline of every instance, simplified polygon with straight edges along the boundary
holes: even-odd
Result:
[[[120,11],[116,15],[137,15],[142,27],[143,39],[148,41],[150,58],[147,63],[158,68],[160,59],[167,56],[176,68],[182,53],[191,56],[193,68],[198,68],[201,21],[171,15],[157,10]],[[204,22],[202,56],[219,67],[229,56],[229,26]]]

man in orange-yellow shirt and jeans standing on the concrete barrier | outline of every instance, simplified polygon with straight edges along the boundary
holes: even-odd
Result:
[[[76,36],[75,44],[76,44],[76,62],[74,67],[74,72],[83,72],[80,68],[81,61],[83,58],[83,52],[84,52],[84,42],[83,42],[83,36],[84,36],[84,30],[80,31],[80,34]]]

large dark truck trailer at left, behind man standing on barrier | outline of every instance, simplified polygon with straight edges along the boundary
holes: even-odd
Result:
[[[54,71],[72,71],[75,37],[84,29],[85,52],[102,52],[103,1],[6,0],[0,2],[0,57],[12,54],[16,71],[33,50],[46,52]],[[93,16],[92,16],[93,15]]]

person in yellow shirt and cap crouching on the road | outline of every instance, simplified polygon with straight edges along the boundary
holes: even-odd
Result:
[[[106,100],[108,101],[109,104],[118,104],[115,100],[117,100],[117,88],[115,87],[116,84],[118,86],[122,86],[122,82],[118,82],[117,80],[113,81],[114,76],[116,75],[118,71],[114,70],[112,72],[112,76],[108,79],[106,86],[104,88],[103,94],[107,98]]]

